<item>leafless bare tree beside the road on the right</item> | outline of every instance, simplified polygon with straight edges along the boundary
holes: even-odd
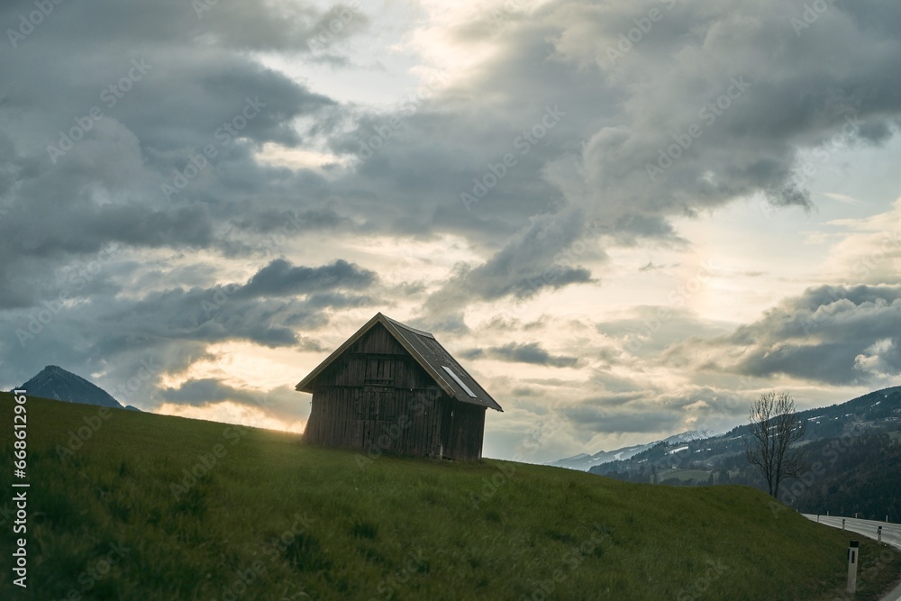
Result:
[[[804,471],[796,442],[804,438],[807,423],[795,411],[795,399],[785,392],[768,392],[751,405],[751,439],[745,441],[745,457],[767,480],[769,495],[778,498],[786,478]]]

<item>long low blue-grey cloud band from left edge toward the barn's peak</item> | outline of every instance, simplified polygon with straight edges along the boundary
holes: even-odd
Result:
[[[279,296],[259,296],[273,269],[284,270],[293,292],[278,289]],[[299,332],[325,326],[335,307],[378,304],[369,296],[346,293],[374,278],[342,260],[318,268],[273,261],[242,284],[100,295],[76,305],[62,305],[51,297],[39,308],[4,315],[0,322],[4,377],[27,379],[36,367],[50,362],[86,373],[107,371],[107,378],[116,383],[132,378],[142,362],[150,361],[159,366],[153,371],[151,384],[155,384],[166,373],[186,369],[196,360],[214,359],[205,349],[216,342],[250,341],[270,348],[322,351],[318,341]],[[144,399],[154,390],[151,384],[141,388]],[[137,395],[132,390],[125,393],[133,393],[132,398]]]

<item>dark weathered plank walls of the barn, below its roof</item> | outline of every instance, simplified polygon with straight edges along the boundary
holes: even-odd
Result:
[[[325,446],[478,459],[485,408],[446,396],[383,326],[316,378],[305,438]]]

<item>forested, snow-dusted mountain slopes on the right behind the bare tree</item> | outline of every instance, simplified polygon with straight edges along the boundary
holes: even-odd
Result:
[[[779,500],[811,514],[901,520],[901,387],[798,415],[806,422],[799,447],[809,469],[784,483]],[[750,426],[741,425],[717,436],[661,441],[589,471],[631,482],[743,484],[765,490],[744,455],[750,433]]]

